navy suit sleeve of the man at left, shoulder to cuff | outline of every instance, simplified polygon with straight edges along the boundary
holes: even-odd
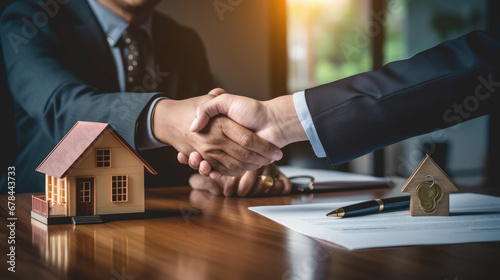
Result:
[[[1,18],[1,44],[15,103],[54,143],[79,120],[106,122],[132,146],[135,124],[155,93],[101,92],[81,81],[61,51],[55,18],[30,22],[36,6],[14,3]]]

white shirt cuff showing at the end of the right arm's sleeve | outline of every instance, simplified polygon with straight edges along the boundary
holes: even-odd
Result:
[[[307,138],[313,147],[314,153],[317,157],[326,157],[325,149],[319,140],[318,132],[311,118],[311,113],[307,107],[305,91],[299,91],[293,94],[293,105],[299,117],[302,127],[306,131]]]

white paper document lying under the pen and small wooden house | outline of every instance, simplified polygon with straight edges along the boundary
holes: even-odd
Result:
[[[250,207],[277,223],[345,248],[500,241],[500,197],[451,194],[450,216],[412,217],[409,210],[350,217],[326,213],[360,201]]]

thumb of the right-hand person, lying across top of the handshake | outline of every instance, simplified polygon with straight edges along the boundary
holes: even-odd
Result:
[[[210,118],[219,114],[227,115],[230,107],[227,94],[222,94],[196,108],[196,116],[189,128],[191,132],[198,132],[207,126]]]

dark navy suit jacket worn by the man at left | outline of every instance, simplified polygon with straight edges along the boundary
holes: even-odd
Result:
[[[0,22],[8,86],[15,103],[18,192],[44,190],[44,175],[35,168],[77,121],[109,123],[134,147],[138,116],[158,92],[185,99],[213,88],[197,34],[155,13],[155,66],[163,78],[158,92],[120,92],[105,34],[87,1],[69,1],[57,10],[52,7],[52,12],[39,7],[39,2],[16,1]],[[40,14],[46,15],[45,21]],[[186,184],[183,174],[189,168],[181,167],[175,155],[172,147],[143,153],[160,173],[158,184]]]

